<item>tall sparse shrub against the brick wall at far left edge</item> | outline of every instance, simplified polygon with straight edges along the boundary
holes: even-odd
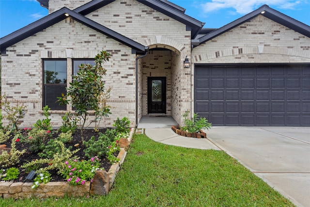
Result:
[[[11,106],[11,103],[8,101],[7,96],[1,96],[1,109],[6,113],[2,118],[9,120],[9,126],[12,125],[13,129],[18,130],[18,125],[20,125],[20,119],[24,118],[25,109],[27,106],[20,104],[17,100],[14,100],[16,103],[14,106]],[[1,119],[2,120],[2,119]]]

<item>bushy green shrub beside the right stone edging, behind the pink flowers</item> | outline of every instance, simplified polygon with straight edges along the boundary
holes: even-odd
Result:
[[[99,133],[98,140],[95,140],[95,137],[93,136],[89,141],[84,142],[87,147],[84,149],[85,156],[88,158],[92,158],[94,156],[103,158],[109,151],[109,146],[114,141],[115,134],[115,129],[107,129],[105,134]]]

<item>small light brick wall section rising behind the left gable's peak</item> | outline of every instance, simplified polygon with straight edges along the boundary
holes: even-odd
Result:
[[[92,0],[49,0],[48,1],[48,14],[56,12],[62,7],[67,7],[68,9],[76,9],[85,3],[88,3]]]

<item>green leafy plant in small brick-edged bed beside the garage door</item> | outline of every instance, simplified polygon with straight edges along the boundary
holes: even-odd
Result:
[[[212,127],[212,123],[209,123],[205,117],[198,118],[197,113],[193,113],[192,118],[188,118],[188,112],[186,111],[182,116],[184,119],[185,126],[181,127],[181,130],[188,131],[188,132],[200,132],[201,129],[207,129]]]

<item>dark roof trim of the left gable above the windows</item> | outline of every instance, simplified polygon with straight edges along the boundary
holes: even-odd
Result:
[[[6,52],[6,48],[10,47],[14,44],[16,44],[17,42],[37,33],[40,32],[44,29],[46,29],[47,27],[50,27],[60,21],[62,21],[63,19],[67,18],[68,16],[66,16],[65,14],[69,15],[71,18],[73,18],[74,20],[80,22],[83,25],[86,25],[89,28],[92,28],[93,30],[100,32],[102,34],[105,34],[107,36],[109,36],[110,38],[123,43],[124,45],[132,48],[132,52],[133,53],[144,53],[148,47],[145,47],[143,45],[141,45],[140,43],[135,42],[132,39],[129,39],[128,37],[125,37],[124,35],[114,32],[112,30],[110,30],[109,28],[98,24],[97,22],[83,16],[80,15],[66,7],[63,7],[62,9],[47,15],[29,25],[27,25],[26,27],[23,27],[15,32],[12,32],[11,34],[8,34],[4,37],[2,37],[0,39],[0,49],[1,49],[1,53],[5,54]]]

